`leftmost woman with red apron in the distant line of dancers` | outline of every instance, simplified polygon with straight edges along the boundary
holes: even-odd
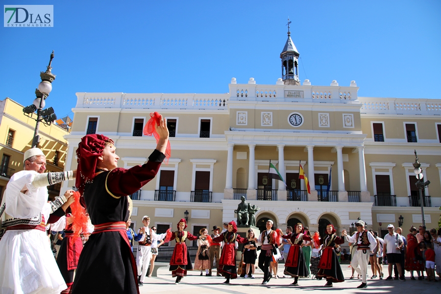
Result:
[[[190,234],[190,232],[184,231],[187,228],[187,221],[181,219],[177,223],[178,230],[171,232],[170,229],[167,230],[167,236],[164,243],[171,240],[176,241],[174,246],[172,258],[170,259],[170,271],[172,272],[172,277],[176,277],[175,284],[179,284],[182,277],[187,275],[187,270],[193,270],[192,260],[190,259],[190,253],[188,252],[186,240],[193,241],[197,237]],[[207,235],[199,236],[199,239],[207,237]]]

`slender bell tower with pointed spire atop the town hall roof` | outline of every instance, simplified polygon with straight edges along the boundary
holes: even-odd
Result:
[[[280,53],[282,59],[282,80],[285,85],[300,85],[298,78],[298,56],[300,55],[295,48],[290,32],[290,19],[288,19],[288,40]]]

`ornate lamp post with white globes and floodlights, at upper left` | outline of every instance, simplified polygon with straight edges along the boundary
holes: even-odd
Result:
[[[25,116],[30,117],[36,121],[34,138],[32,140],[32,148],[37,147],[40,143],[40,136],[38,135],[40,122],[43,122],[43,124],[45,125],[50,125],[50,123],[54,122],[57,119],[57,116],[55,115],[52,107],[43,110],[46,105],[45,100],[46,98],[48,98],[50,91],[52,91],[52,82],[55,79],[55,74],[50,72],[52,70],[52,67],[50,65],[52,63],[53,56],[54,54],[52,51],[52,54],[50,54],[49,65],[46,72],[40,73],[41,82],[38,85],[38,89],[35,89],[35,96],[37,98],[34,99],[31,105],[23,108]],[[37,111],[36,119],[32,117],[32,114],[35,111]]]

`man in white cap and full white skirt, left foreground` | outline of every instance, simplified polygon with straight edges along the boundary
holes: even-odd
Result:
[[[48,203],[49,185],[74,178],[74,172],[49,172],[39,148],[25,152],[25,170],[9,180],[0,206],[0,293],[55,294],[67,286],[45,232],[73,202],[73,190]]]

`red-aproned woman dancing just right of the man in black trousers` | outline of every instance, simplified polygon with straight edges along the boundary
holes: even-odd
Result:
[[[291,285],[298,286],[298,278],[308,275],[301,245],[303,241],[311,241],[311,236],[304,235],[303,225],[297,223],[295,233],[284,235],[282,238],[287,239],[288,243],[291,243],[290,251],[288,252],[288,257],[285,262],[284,274],[294,277],[294,283]]]

